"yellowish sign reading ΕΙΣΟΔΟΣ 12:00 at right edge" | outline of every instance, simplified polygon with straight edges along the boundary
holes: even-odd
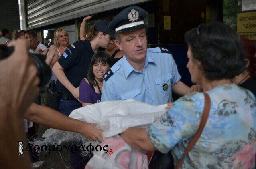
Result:
[[[256,12],[237,14],[236,31],[244,38],[256,40]]]

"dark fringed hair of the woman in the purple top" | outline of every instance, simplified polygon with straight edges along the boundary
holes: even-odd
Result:
[[[108,64],[111,68],[112,66],[112,59],[109,56],[109,54],[105,51],[99,51],[96,52],[92,58],[91,58],[91,64],[88,70],[88,74],[87,74],[87,79],[88,81],[93,84],[96,85],[94,80],[95,80],[95,76],[93,74],[93,64],[98,64],[98,63],[104,63],[104,64]]]

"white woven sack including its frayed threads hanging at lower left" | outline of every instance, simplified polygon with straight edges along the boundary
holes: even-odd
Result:
[[[132,99],[105,101],[87,105],[71,112],[69,117],[95,123],[102,129],[103,139],[122,133],[129,127],[148,127],[159,119],[167,110],[166,105],[154,106]],[[98,145],[98,141],[89,141],[79,133],[47,129],[43,139],[33,141],[34,145],[61,145],[67,142],[83,142],[85,147],[91,143]],[[88,151],[81,151],[87,155]]]

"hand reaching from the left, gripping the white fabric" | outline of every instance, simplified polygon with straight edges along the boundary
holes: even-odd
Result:
[[[85,123],[84,131],[82,134],[91,141],[99,141],[102,142],[102,130],[98,129],[95,124]]]

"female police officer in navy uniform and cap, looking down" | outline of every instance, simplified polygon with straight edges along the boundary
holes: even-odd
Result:
[[[58,111],[69,115],[71,111],[81,107],[79,84],[86,78],[91,57],[98,48],[106,48],[112,43],[114,33],[108,29],[108,21],[97,22],[92,28],[91,37],[85,41],[77,41],[67,47],[65,52],[53,66],[57,76],[56,87],[62,91]]]

